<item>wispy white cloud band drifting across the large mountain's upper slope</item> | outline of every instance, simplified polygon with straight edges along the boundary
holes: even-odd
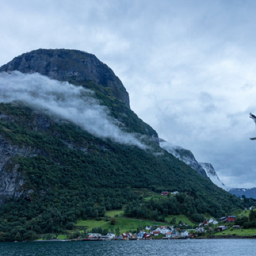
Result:
[[[0,101],[21,101],[77,124],[96,137],[146,149],[135,134],[123,132],[108,108],[99,105],[93,91],[68,82],[59,82],[35,74],[0,73]]]

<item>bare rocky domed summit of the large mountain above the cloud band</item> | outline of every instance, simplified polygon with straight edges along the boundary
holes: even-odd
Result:
[[[129,105],[129,94],[121,80],[112,69],[100,62],[93,54],[66,49],[38,49],[15,57],[1,66],[0,72],[20,71],[21,73],[40,73],[55,80],[71,84],[97,88],[108,96]]]

